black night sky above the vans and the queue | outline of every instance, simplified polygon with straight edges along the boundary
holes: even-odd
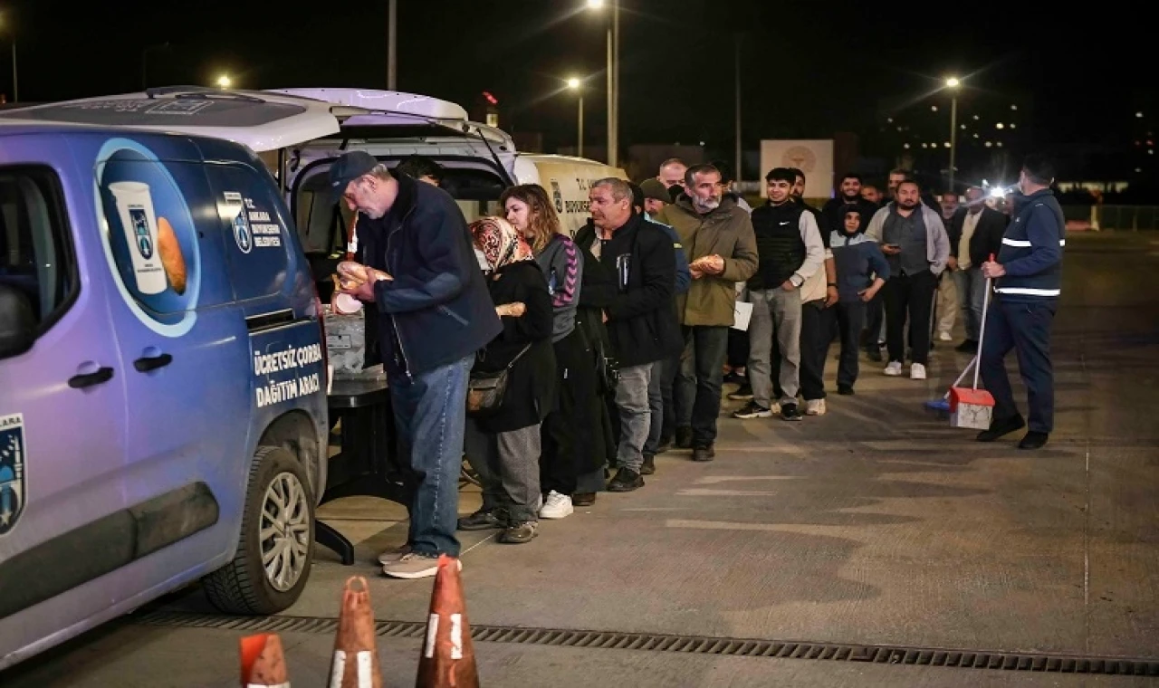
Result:
[[[927,93],[949,73],[969,76],[971,88],[1029,94],[1036,146],[1115,144],[1130,137],[1130,117],[1156,83],[1143,50],[1154,45],[1153,19],[1136,15],[1027,3],[621,2],[625,147],[704,140],[731,151],[738,31],[749,148],[859,130],[879,98]],[[575,101],[560,92],[562,79],[589,74],[588,140],[603,139],[604,20],[585,0],[399,5],[401,90],[468,108],[489,90],[504,129],[541,131],[551,151],[574,140]],[[210,85],[226,72],[241,88],[385,88],[386,7],[0,0],[0,89],[10,93],[10,29],[22,101],[139,90],[143,51],[166,42],[148,52],[151,86]]]

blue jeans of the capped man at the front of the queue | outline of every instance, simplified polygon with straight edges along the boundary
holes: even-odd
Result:
[[[454,530],[459,519],[459,474],[467,422],[469,356],[411,380],[392,375],[391,402],[410,504],[407,543],[416,554],[459,556]]]

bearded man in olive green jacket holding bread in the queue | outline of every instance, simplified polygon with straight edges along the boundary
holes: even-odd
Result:
[[[757,271],[757,239],[749,213],[724,195],[710,164],[688,168],[685,192],[656,220],[680,235],[692,271],[692,287],[677,297],[685,347],[673,395],[676,446],[692,447],[693,461],[712,461],[736,283]]]

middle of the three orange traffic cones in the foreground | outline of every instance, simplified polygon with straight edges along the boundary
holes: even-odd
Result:
[[[350,577],[342,588],[330,688],[382,688],[374,641],[374,612],[370,607],[370,587],[362,576]]]

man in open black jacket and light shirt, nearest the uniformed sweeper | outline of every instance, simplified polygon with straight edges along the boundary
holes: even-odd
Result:
[[[946,266],[957,287],[957,302],[965,319],[965,341],[956,350],[962,353],[978,351],[982,328],[982,302],[986,278],[982,264],[997,256],[1003,248],[1003,233],[1008,218],[986,207],[985,192],[978,186],[965,190],[965,210],[958,210],[949,221],[949,262]]]

